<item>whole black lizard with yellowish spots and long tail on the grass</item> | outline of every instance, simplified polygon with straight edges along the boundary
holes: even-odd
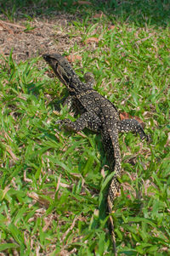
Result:
[[[76,122],[65,119],[59,120],[57,123],[63,124],[76,132],[81,131],[83,128],[89,128],[101,134],[111,172],[115,172],[108,191],[107,205],[110,213],[111,237],[116,254],[116,238],[111,213],[113,201],[119,191],[120,184],[118,179],[122,176],[118,133],[136,132],[141,139],[146,140],[148,140],[148,136],[144,133],[137,120],[119,120],[115,105],[93,89],[94,77],[91,73],[85,74],[86,83],[84,83],[80,81],[71,65],[60,54],[44,54],[42,57],[52,67],[59,81],[63,82],[68,88],[69,100],[73,105],[76,105],[77,111],[81,113]]]

